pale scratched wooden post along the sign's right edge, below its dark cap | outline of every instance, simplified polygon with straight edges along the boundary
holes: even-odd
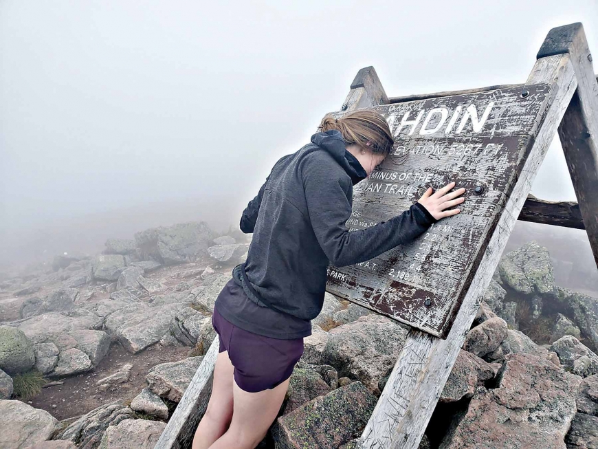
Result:
[[[533,133],[535,142],[531,153],[522,161],[520,177],[491,234],[447,338],[436,338],[415,328],[409,331],[406,344],[359,439],[361,448],[415,449],[419,446],[538,167],[577,87],[570,59],[568,54],[559,54],[536,61],[526,84],[549,83],[551,91],[546,99],[542,127]]]

